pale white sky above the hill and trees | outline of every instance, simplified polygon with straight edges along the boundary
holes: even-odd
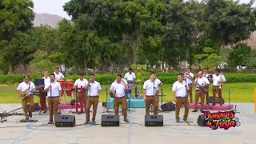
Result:
[[[61,16],[62,18],[70,19],[70,16],[66,14],[63,10],[63,7],[66,2],[70,0],[33,0],[34,2],[34,12],[41,14],[56,14]],[[250,0],[240,0],[240,3],[249,3]],[[254,3],[256,6],[256,2]]]

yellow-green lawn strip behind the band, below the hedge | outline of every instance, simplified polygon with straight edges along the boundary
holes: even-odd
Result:
[[[166,94],[166,97],[163,98],[163,102],[173,102],[171,86],[172,85],[162,86],[163,94]],[[255,83],[226,83],[223,86],[222,96],[224,100],[228,102],[230,90],[230,102],[254,102],[254,87],[256,87]],[[18,98],[18,94],[15,92],[16,88],[17,86],[0,86],[0,103],[20,103],[21,101]],[[107,86],[107,88],[109,89],[110,86]],[[140,88],[142,88],[142,86],[140,86]],[[159,93],[161,93],[161,91],[159,91]],[[211,89],[209,95],[212,95]],[[99,96],[100,102],[106,100],[106,85],[102,86],[102,93]],[[70,102],[70,99],[70,97],[67,97],[66,102]],[[38,100],[38,96],[35,96],[34,101],[38,102]],[[64,102],[64,100],[62,101]]]

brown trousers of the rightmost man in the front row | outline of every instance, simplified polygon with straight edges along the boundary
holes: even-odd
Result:
[[[182,105],[185,107],[183,118],[187,118],[190,110],[190,102],[188,102],[188,99],[186,98],[176,97],[176,99],[177,99],[176,110],[175,110],[176,119],[179,119],[179,111],[181,110]]]

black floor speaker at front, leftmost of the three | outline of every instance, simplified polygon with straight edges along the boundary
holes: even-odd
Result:
[[[55,121],[56,127],[74,127],[75,117],[74,115],[58,115]]]

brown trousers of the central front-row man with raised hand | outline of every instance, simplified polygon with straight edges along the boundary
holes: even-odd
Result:
[[[126,97],[123,96],[122,98],[114,98],[114,114],[118,115],[118,109],[119,105],[122,106],[122,113],[123,113],[123,118],[127,118],[127,106],[126,106]]]

